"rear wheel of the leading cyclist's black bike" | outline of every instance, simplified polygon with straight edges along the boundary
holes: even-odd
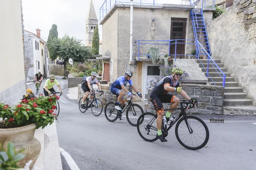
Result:
[[[155,117],[156,115],[155,114],[153,114],[153,113],[151,113],[151,112],[144,112],[142,115],[140,115],[140,117],[138,118],[138,121],[137,121],[137,130],[138,130],[138,134],[140,135],[140,137],[142,138],[142,139],[144,139],[145,141],[148,141],[148,142],[154,142],[154,141],[156,141],[158,138],[156,137],[156,134],[157,134],[157,127],[155,127],[156,129],[152,129],[152,131],[154,132],[154,131],[156,131],[156,133],[154,134],[154,135],[150,135],[150,136],[154,136],[154,138],[152,138],[152,139],[148,139],[148,138],[145,138],[144,136],[143,136],[143,133],[141,132],[141,125],[142,126],[144,126],[143,128],[146,128],[149,124],[147,124],[146,125],[146,127],[145,127],[145,125],[143,125],[143,122],[145,121],[145,120],[149,120],[149,119],[147,119],[147,118],[145,118],[145,116],[146,115],[151,115],[152,117]],[[142,120],[141,119],[143,119],[143,122],[141,122]],[[150,119],[150,122],[153,120],[153,119],[155,119],[155,118],[152,118],[152,119]],[[156,119],[153,121],[153,122],[156,122]],[[148,129],[149,130],[149,129]],[[147,130],[146,130],[147,131]],[[149,132],[148,132],[149,133]]]

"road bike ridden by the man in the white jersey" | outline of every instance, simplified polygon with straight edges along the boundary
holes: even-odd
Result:
[[[89,93],[89,95],[94,95],[92,101],[90,102],[89,98],[87,98],[85,101],[84,106],[82,105],[83,102],[83,97],[80,98],[79,102],[78,102],[78,107],[80,112],[84,113],[86,110],[88,110],[89,108],[91,108],[92,110],[92,114],[94,116],[100,116],[100,114],[102,113],[103,110],[103,106],[102,106],[102,102],[100,99],[96,98],[95,95],[98,94],[98,90],[94,91],[93,93]],[[101,93],[100,96],[102,94],[104,94],[104,92],[99,92]]]

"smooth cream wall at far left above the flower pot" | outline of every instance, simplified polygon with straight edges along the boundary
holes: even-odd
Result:
[[[26,93],[21,0],[0,5],[0,102],[17,104]]]

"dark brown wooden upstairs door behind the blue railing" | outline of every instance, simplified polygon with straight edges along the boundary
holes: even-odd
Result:
[[[186,39],[186,23],[187,19],[171,18],[171,40]],[[184,40],[177,40],[177,42],[185,43]],[[175,54],[175,41],[171,41],[171,44],[170,54]],[[176,54],[185,54],[185,44],[176,44]],[[182,58],[182,56],[176,56],[176,58]]]

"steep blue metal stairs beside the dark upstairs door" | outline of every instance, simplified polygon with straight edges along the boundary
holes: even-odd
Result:
[[[199,10],[196,10],[195,8],[191,10],[191,19],[192,19],[192,25],[193,25],[193,31],[195,40],[199,41],[202,46],[197,46],[197,56],[199,57],[200,54],[206,54],[206,52],[211,56],[211,49],[209,46],[209,40],[207,36],[206,26],[204,22],[204,15],[202,12],[202,8]],[[204,48],[204,49],[202,49]]]

